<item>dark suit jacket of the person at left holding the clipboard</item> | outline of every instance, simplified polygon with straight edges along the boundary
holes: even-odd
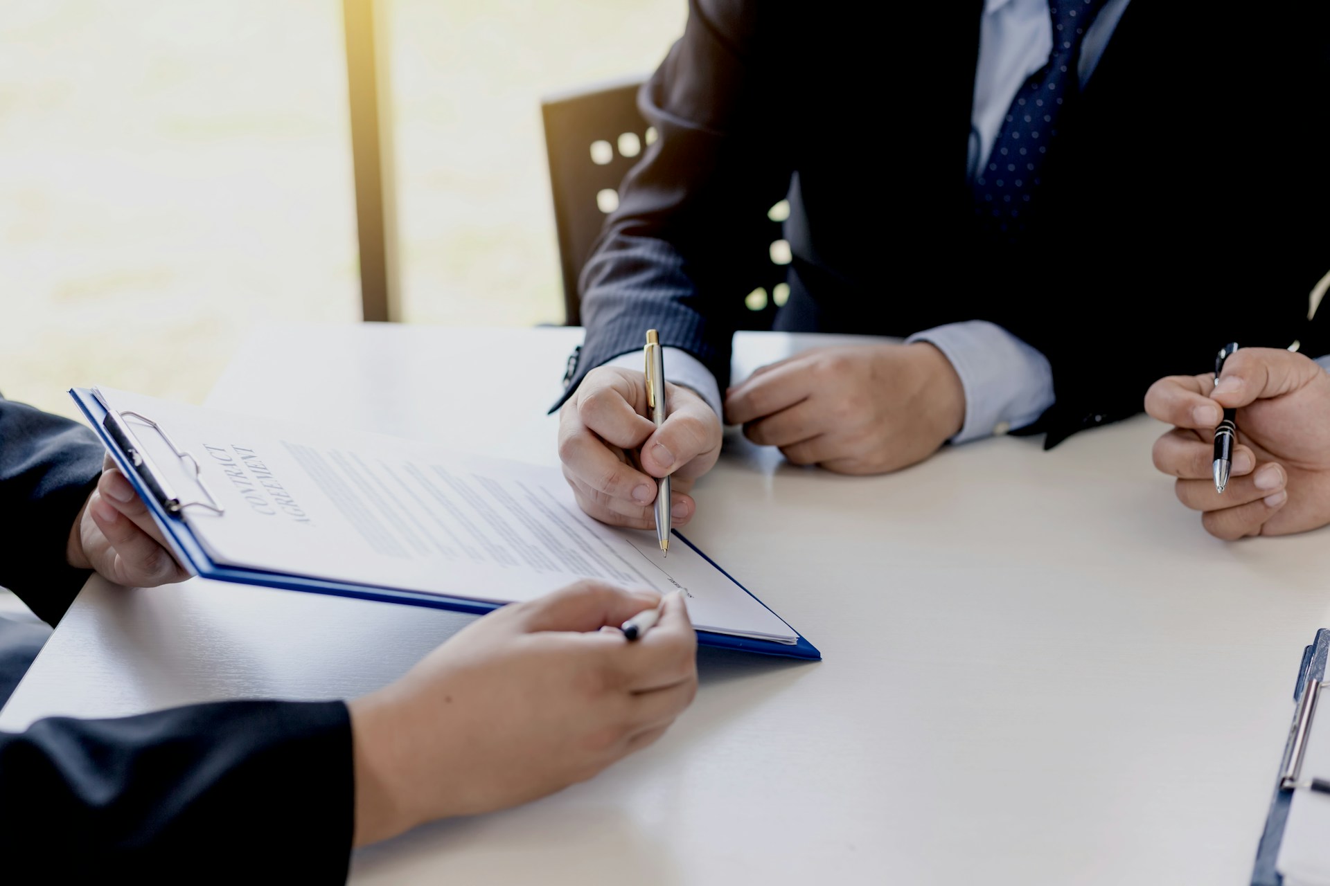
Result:
[[[52,622],[88,576],[65,565],[65,545],[101,460],[86,428],[0,399],[0,586]],[[352,804],[340,701],[52,717],[0,733],[0,871],[12,882],[344,881]]]

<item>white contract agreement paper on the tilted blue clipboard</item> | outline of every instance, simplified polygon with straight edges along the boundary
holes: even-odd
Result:
[[[185,518],[222,566],[509,603],[577,578],[682,588],[693,626],[795,643],[793,630],[677,537],[587,517],[553,468],[338,428],[235,416],[102,388],[193,453],[225,507]],[[182,498],[197,481],[168,442],[125,424]]]

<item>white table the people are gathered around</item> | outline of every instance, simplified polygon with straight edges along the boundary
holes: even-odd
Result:
[[[209,402],[552,462],[543,412],[579,335],[265,328]],[[741,336],[739,363],[794,344]],[[704,651],[696,704],[653,748],[359,851],[352,879],[1245,883],[1302,647],[1330,624],[1327,535],[1209,538],[1150,466],[1158,432],[994,438],[876,478],[729,440],[689,534],[825,660]],[[354,696],[467,620],[94,580],[0,728]]]

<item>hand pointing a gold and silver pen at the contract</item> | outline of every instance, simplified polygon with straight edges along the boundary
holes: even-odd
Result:
[[[559,413],[559,458],[581,509],[614,526],[654,529],[657,478],[670,477],[674,526],[693,517],[693,482],[721,454],[721,420],[698,395],[665,384],[657,428],[642,372],[593,369]]]

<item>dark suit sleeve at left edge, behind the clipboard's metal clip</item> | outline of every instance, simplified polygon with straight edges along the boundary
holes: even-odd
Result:
[[[0,397],[0,587],[51,624],[89,575],[69,567],[65,547],[97,485],[102,453],[82,425]]]

